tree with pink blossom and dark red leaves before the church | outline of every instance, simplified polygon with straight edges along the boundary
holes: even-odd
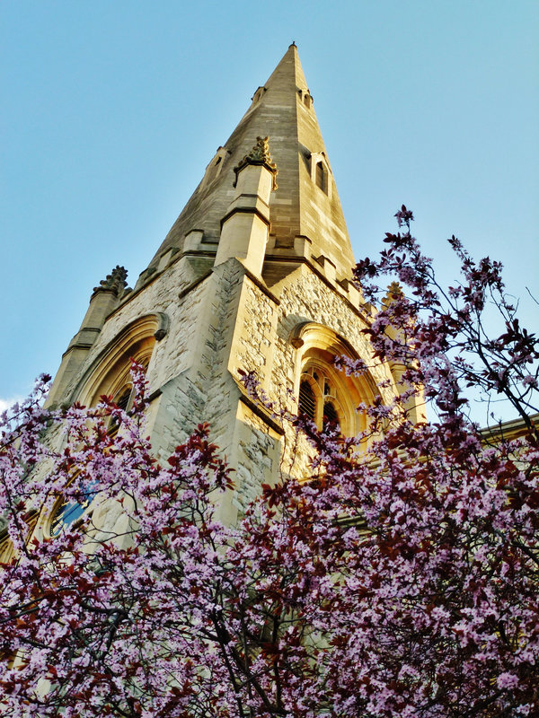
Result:
[[[453,238],[463,276],[444,291],[411,212],[397,219],[402,232],[356,278],[379,307],[367,333],[376,361],[400,367],[400,397],[364,407],[367,452],[365,436],[278,413],[313,442],[312,479],[261,486],[237,526],[215,519],[234,475],[208,426],[156,462],[142,373],[129,414],[106,397],[45,411],[40,384],[5,417],[1,714],[539,713],[537,339],[496,262],[474,263]],[[379,302],[373,283],[386,275],[402,288]],[[504,326],[495,338],[482,320],[491,300]],[[466,417],[470,385],[508,399],[510,433]],[[411,425],[418,391],[433,419]],[[59,497],[81,510],[45,538],[36,527]],[[102,502],[118,503],[121,520],[100,524]]]

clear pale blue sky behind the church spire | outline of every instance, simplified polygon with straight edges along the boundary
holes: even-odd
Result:
[[[537,0],[4,0],[0,400],[136,282],[292,40],[356,257],[405,203],[447,281],[455,233],[537,329],[538,38]]]

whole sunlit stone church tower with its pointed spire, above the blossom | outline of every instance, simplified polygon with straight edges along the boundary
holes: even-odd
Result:
[[[148,431],[167,455],[199,422],[235,469],[221,507],[234,521],[283,451],[301,475],[290,428],[241,381],[256,372],[273,401],[355,435],[357,407],[380,393],[389,366],[361,380],[336,372],[335,355],[368,358],[362,296],[331,164],[296,46],[291,45],[204,176],[163,243],[127,287],[116,267],[95,287],[67,347],[49,405],[102,394],[128,407],[129,358],[147,366]],[[287,438],[289,441],[287,441]],[[288,447],[288,448],[286,448]],[[304,456],[305,459],[305,456]],[[284,468],[283,468],[284,466]]]

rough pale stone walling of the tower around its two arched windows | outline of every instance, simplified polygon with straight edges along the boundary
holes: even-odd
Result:
[[[146,285],[105,323],[79,376],[131,321],[165,312],[170,328],[156,342],[148,370],[150,391],[161,390],[149,410],[154,450],[159,458],[168,455],[194,425],[208,421],[212,442],[236,470],[237,491],[224,509],[224,519],[234,521],[262,482],[278,478],[281,451],[284,473],[299,477],[305,476],[311,453],[290,425],[283,427],[281,439],[270,422],[246,408],[234,381],[237,370],[257,372],[270,398],[296,413],[291,397],[298,388],[302,352],[290,342],[294,328],[315,322],[348,340],[360,356],[370,357],[371,349],[349,303],[303,264],[272,287],[277,301],[234,258],[214,267],[180,298],[192,282],[192,269],[183,258]],[[383,368],[374,373],[376,381],[388,376]]]

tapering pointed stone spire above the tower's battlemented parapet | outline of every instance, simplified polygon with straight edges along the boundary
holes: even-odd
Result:
[[[234,168],[251,152],[257,137],[270,138],[278,167],[278,188],[270,197],[271,255],[297,251],[296,238],[303,237],[312,258],[329,260],[337,278],[350,275],[354,258],[349,235],[295,44],[254,92],[251,106],[209,162],[150,269],[167,250],[184,250],[185,236],[193,230],[203,232],[208,250],[216,250],[221,220],[234,197]]]

